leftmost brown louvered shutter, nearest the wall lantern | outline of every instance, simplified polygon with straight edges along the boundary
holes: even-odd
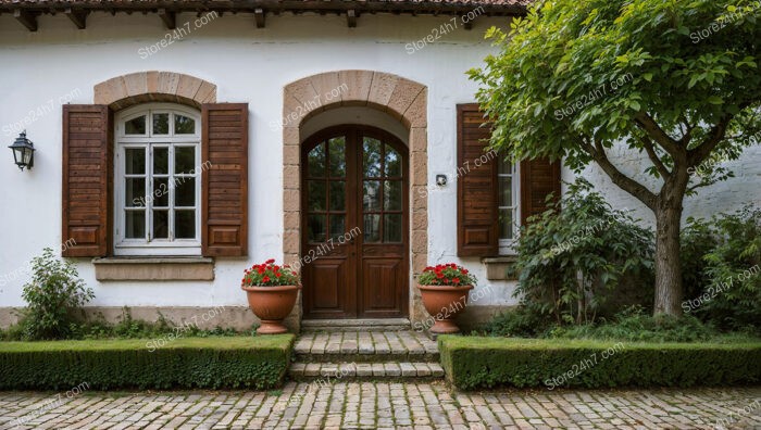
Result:
[[[105,256],[111,249],[113,121],[105,105],[63,105],[62,241],[66,257]]]

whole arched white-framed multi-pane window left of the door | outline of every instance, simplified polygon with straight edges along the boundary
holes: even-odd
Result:
[[[116,116],[115,255],[200,255],[200,115],[144,104]]]

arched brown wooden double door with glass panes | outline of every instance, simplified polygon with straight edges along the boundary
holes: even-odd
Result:
[[[408,315],[407,147],[366,126],[310,137],[301,152],[304,318]]]

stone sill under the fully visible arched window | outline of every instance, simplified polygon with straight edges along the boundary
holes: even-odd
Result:
[[[93,258],[99,281],[214,280],[214,260],[205,257]]]

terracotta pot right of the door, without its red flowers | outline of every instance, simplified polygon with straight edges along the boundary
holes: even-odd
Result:
[[[467,304],[467,293],[473,286],[440,287],[417,286],[425,311],[434,318],[431,332],[436,334],[458,333],[460,328],[454,318]]]

